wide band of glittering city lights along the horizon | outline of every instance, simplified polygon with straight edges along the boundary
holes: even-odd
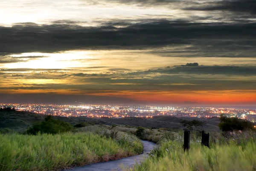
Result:
[[[215,107],[175,107],[175,106],[129,106],[129,105],[58,105],[58,104],[0,104],[0,107],[15,107],[16,111],[27,111],[42,115],[54,116],[84,116],[90,118],[124,118],[141,117],[145,119],[154,116],[176,116],[212,118],[237,117],[256,121],[256,110],[215,108]]]

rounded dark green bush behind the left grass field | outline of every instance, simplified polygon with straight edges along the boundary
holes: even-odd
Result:
[[[64,121],[52,119],[52,116],[47,116],[45,121],[36,123],[26,130],[27,134],[37,135],[40,133],[63,133],[72,130],[72,126]]]

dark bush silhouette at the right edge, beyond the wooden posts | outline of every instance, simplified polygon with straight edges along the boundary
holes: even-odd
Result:
[[[221,122],[218,124],[218,126],[222,131],[254,129],[253,122],[244,119],[227,118],[226,116],[221,115],[220,121]]]

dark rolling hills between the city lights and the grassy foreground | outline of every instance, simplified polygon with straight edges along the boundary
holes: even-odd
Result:
[[[20,111],[1,111],[0,112],[0,129],[9,128],[17,132],[23,132],[29,128],[35,122],[41,122],[44,120],[45,115],[30,113],[30,112],[20,112]],[[219,130],[218,118],[189,118],[183,117],[178,118],[175,116],[154,116],[150,119],[145,118],[107,118],[107,119],[96,119],[96,118],[87,118],[85,116],[81,117],[62,117],[62,116],[52,116],[53,119],[60,119],[65,122],[69,122],[71,125],[76,125],[79,122],[87,122],[91,125],[130,125],[132,127],[148,127],[148,128],[171,128],[179,129],[184,128],[180,122],[182,120],[200,120],[206,122],[204,125],[205,130]]]

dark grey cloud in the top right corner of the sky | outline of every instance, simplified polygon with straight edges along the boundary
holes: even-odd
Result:
[[[188,7],[189,10],[201,11],[231,11],[256,14],[255,0],[222,0],[198,3],[198,6]]]

